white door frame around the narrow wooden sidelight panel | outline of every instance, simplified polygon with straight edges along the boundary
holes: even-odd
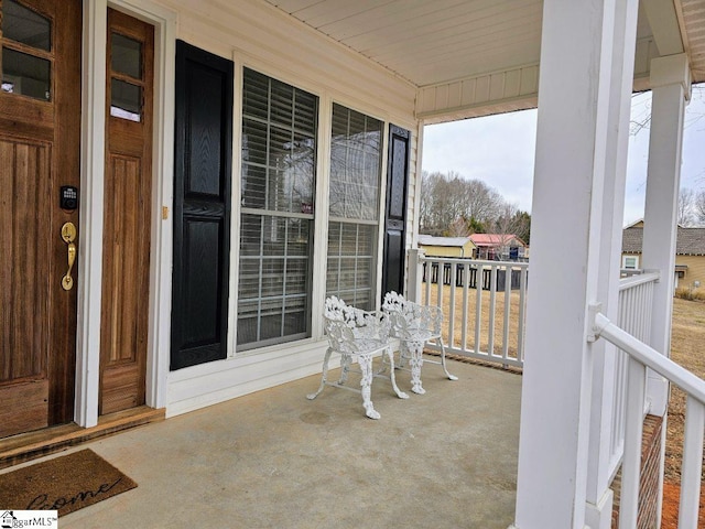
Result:
[[[145,403],[166,406],[171,317],[176,13],[151,0],[83,0],[83,102],[75,422],[98,423],[108,6],[154,25],[152,220]],[[86,74],[87,73],[87,74]],[[166,209],[164,209],[166,208]],[[166,213],[166,215],[164,215]]]

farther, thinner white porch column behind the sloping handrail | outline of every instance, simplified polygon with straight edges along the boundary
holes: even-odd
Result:
[[[686,55],[654,58],[651,62],[651,88],[653,94],[642,268],[661,272],[661,281],[655,285],[653,294],[649,345],[670,356],[683,117],[691,89]],[[650,401],[650,413],[665,413],[668,384],[653,371],[649,371],[647,398]]]

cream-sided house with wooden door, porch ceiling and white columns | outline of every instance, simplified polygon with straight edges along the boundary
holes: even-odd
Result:
[[[650,89],[640,266],[661,271],[650,344],[668,356],[698,6],[0,2],[0,438],[319,374],[326,296],[414,295],[424,127],[539,107],[516,526],[609,527],[618,370],[592,331],[618,314],[615,190],[631,95]],[[650,376],[649,413],[668,395]]]

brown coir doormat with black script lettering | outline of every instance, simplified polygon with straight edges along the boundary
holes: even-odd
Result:
[[[0,509],[58,510],[97,504],[137,483],[90,450],[0,474]]]

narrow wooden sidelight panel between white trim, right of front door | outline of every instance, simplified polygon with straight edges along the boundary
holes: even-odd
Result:
[[[154,28],[108,10],[99,413],[144,403]]]

